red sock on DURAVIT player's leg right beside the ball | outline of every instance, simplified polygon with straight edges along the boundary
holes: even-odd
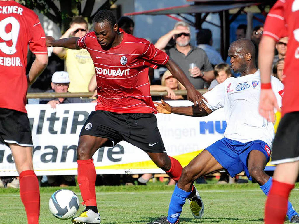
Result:
[[[93,159],[77,160],[78,163],[78,185],[81,191],[83,205],[97,206],[95,195],[95,172]]]

